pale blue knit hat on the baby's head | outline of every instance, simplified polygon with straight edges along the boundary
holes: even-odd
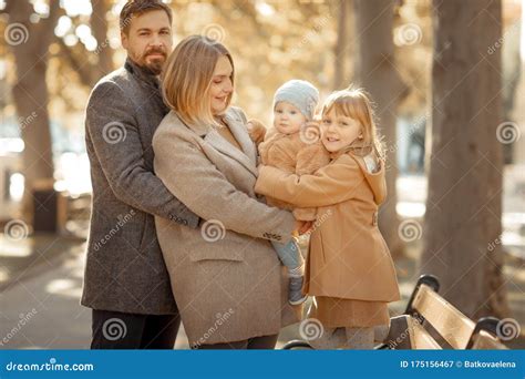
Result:
[[[294,79],[279,86],[276,91],[274,109],[280,101],[286,101],[297,106],[307,120],[312,120],[313,112],[319,103],[319,91],[310,82]]]

